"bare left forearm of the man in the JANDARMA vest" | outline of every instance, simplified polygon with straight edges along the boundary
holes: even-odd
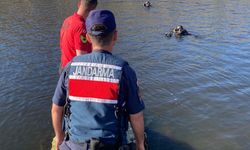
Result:
[[[64,107],[52,104],[51,116],[54,132],[56,135],[56,150],[59,150],[59,145],[62,144],[65,136],[62,130],[63,110]]]

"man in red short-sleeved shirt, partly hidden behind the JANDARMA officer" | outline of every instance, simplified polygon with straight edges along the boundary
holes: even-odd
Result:
[[[64,20],[60,31],[60,70],[73,57],[91,52],[91,44],[86,40],[85,20],[89,12],[95,9],[96,6],[97,0],[80,0],[78,11]]]

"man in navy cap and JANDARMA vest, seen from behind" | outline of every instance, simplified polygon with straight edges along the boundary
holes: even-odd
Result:
[[[62,72],[52,104],[56,146],[61,150],[117,150],[127,144],[130,120],[137,150],[144,150],[144,103],[129,64],[114,55],[114,15],[93,10],[86,20],[93,52],[73,58]],[[67,99],[67,100],[65,100]],[[66,134],[62,130],[67,104]]]

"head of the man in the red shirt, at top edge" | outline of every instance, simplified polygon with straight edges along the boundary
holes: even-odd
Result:
[[[84,19],[86,19],[89,12],[94,10],[97,4],[97,0],[79,0],[77,14],[83,16]]]

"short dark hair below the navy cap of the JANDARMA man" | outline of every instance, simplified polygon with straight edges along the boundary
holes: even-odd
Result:
[[[92,31],[101,31],[101,30],[105,30],[105,26],[104,25],[94,25],[91,30]],[[110,32],[108,34],[100,34],[100,35],[92,35],[91,33],[89,33],[91,40],[94,40],[94,42],[96,42],[98,45],[100,46],[107,46],[111,43],[112,41],[112,37],[115,31]]]

